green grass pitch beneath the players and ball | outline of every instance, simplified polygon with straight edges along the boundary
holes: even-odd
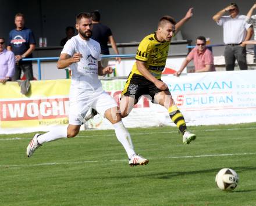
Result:
[[[256,123],[190,127],[183,144],[175,127],[129,129],[148,165],[130,167],[113,130],[83,131],[45,143],[33,157],[34,133],[0,135],[0,205],[256,205]],[[232,168],[232,192],[215,175]]]

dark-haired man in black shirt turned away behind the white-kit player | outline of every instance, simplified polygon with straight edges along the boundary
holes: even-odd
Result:
[[[119,55],[118,47],[116,46],[115,39],[113,38],[111,29],[104,24],[100,23],[101,14],[95,10],[91,13],[93,20],[93,35],[92,39],[99,42],[101,45],[101,55],[109,55],[108,42],[111,43],[111,46],[114,52]],[[121,62],[120,57],[116,57],[116,61]],[[102,67],[108,66],[108,59],[104,58],[101,60]]]

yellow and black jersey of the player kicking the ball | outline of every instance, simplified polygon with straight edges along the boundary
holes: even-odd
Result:
[[[161,74],[165,68],[168,56],[170,42],[159,42],[157,34],[147,35],[138,45],[136,60],[145,62],[147,69],[155,78],[161,79]],[[136,63],[134,63],[131,74],[143,75],[138,71]]]

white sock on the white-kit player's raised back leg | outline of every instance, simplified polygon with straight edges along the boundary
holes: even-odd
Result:
[[[56,139],[67,138],[67,128],[54,128],[51,131],[38,136],[37,142],[42,144],[44,142],[51,142]]]

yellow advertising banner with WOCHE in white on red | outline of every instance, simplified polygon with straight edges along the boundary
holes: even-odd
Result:
[[[31,81],[23,95],[17,82],[0,84],[0,128],[44,128],[68,124],[70,79]]]

